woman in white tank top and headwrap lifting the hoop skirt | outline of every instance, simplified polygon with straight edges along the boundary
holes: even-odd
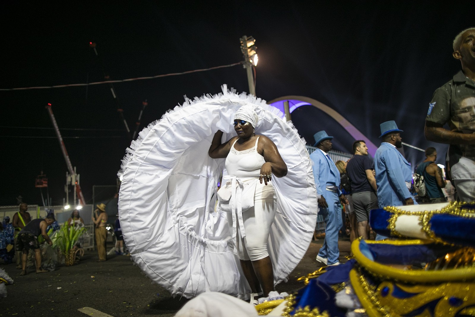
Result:
[[[234,224],[233,221],[240,215],[236,215],[234,219],[228,215],[229,223],[238,228],[233,238],[236,239],[237,253],[244,276],[252,290],[251,301],[258,296],[266,297],[274,290],[272,261],[267,253],[270,227],[277,207],[271,180],[272,176],[280,178],[287,175],[287,166],[274,142],[266,136],[256,135],[258,118],[252,107],[239,108],[234,116],[234,130],[237,136],[221,144],[223,131],[218,130],[208,152],[211,158],[226,158],[228,175],[223,177],[218,199],[220,199],[219,192],[231,189],[234,181],[235,188],[243,187],[241,196],[246,193],[250,196],[248,199],[254,200],[254,207],[245,210],[241,206],[242,222]],[[244,190],[250,187],[251,190]],[[232,194],[236,194],[236,190],[232,190]],[[230,199],[232,197],[229,197]],[[241,204],[245,199],[241,197],[237,204]]]

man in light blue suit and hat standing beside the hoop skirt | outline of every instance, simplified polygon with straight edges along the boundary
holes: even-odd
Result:
[[[314,162],[314,178],[317,188],[319,214],[325,219],[325,240],[318,252],[316,260],[328,265],[339,265],[338,232],[342,228],[342,204],[348,204],[345,195],[340,191],[340,172],[328,156],[332,149],[333,137],[325,131],[314,134],[317,149],[310,155]]]

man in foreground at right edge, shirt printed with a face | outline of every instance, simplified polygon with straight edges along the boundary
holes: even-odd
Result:
[[[429,103],[424,134],[450,144],[449,171],[461,201],[475,200],[475,28],[460,32],[452,56],[462,70],[438,88]],[[450,130],[444,128],[448,124]]]

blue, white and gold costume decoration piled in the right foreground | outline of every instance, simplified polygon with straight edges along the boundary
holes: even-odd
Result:
[[[475,205],[443,203],[371,211],[374,231],[354,259],[300,277],[283,316],[475,316]]]

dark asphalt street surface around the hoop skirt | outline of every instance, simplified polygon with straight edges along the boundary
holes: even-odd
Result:
[[[316,240],[310,244],[288,282],[277,285],[277,291],[290,293],[304,286],[296,279],[321,267],[315,256],[322,243],[323,240]],[[350,252],[349,239],[341,238],[339,245],[340,261],[345,262]],[[108,249],[112,247],[109,243]],[[61,266],[41,274],[30,270],[26,276],[19,275],[21,270],[14,263],[0,266],[14,280],[14,284],[7,286],[7,297],[1,299],[0,316],[168,317],[188,301],[171,297],[128,256],[114,254],[105,262],[96,260],[96,251],[85,251],[74,266]]]

